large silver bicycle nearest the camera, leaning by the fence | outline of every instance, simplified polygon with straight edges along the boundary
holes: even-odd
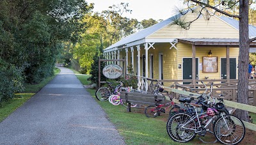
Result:
[[[218,99],[218,98],[217,98]],[[221,100],[220,100],[221,101]],[[191,102],[187,99],[186,102]],[[213,105],[212,105],[213,106]],[[218,102],[214,107],[207,108],[206,112],[195,115],[187,112],[177,112],[168,119],[166,130],[173,141],[188,142],[195,138],[196,134],[204,136],[213,125],[213,134],[223,144],[238,144],[243,141],[245,127],[243,121],[231,114],[225,114],[225,105]]]

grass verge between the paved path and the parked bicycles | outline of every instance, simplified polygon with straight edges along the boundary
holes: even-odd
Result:
[[[76,75],[81,82],[84,82],[86,76]],[[86,79],[87,80],[87,79]],[[86,82],[89,84],[90,82]],[[84,83],[83,83],[84,84]],[[158,116],[157,118],[147,118],[141,113],[144,109],[132,109],[127,112],[123,105],[111,105],[109,102],[99,102],[95,97],[95,89],[87,89],[87,91],[95,98],[99,105],[108,114],[109,120],[116,126],[118,132],[125,139],[126,144],[180,144],[174,142],[166,132],[166,116]],[[198,141],[198,139],[195,139]],[[188,145],[195,142],[188,142]]]

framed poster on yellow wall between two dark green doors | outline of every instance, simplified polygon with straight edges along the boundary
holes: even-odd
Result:
[[[203,73],[218,72],[218,57],[217,56],[203,56]]]

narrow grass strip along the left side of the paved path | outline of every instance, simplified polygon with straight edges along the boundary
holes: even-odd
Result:
[[[17,93],[12,100],[4,102],[0,107],[0,122],[12,114],[12,112],[19,108],[21,105],[23,105],[23,103],[35,95],[36,92],[40,91],[40,89],[42,89],[48,82],[50,82],[58,73],[60,73],[60,69],[55,68],[54,75],[52,77],[48,77],[47,79],[40,82],[40,84],[26,84],[26,89],[22,93]]]

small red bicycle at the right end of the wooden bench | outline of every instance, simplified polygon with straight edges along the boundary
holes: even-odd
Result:
[[[159,82],[155,85],[155,88],[156,89],[154,89],[154,91],[153,91],[154,95],[163,95],[162,93],[164,91],[164,88]],[[167,92],[167,95],[168,95],[168,91],[166,91],[166,92]],[[144,114],[148,118],[156,118],[156,116],[160,116],[161,112],[165,113],[166,110],[168,108],[170,108],[171,106],[172,106],[172,109],[170,109],[169,114],[171,114],[171,112],[178,112],[180,110],[180,107],[178,105],[174,104],[170,95],[168,95],[168,96],[171,100],[170,103],[161,104],[160,102],[162,101],[162,99],[155,98],[156,104],[155,105],[149,105],[148,107],[146,107],[145,111],[144,111]],[[165,96],[163,95],[163,97],[165,97]]]

